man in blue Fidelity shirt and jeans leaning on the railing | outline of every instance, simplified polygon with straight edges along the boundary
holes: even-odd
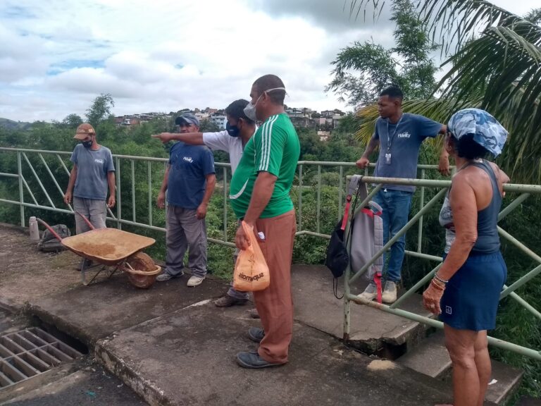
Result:
[[[366,168],[368,157],[376,147],[380,147],[374,176],[382,178],[417,178],[419,149],[426,137],[445,134],[447,127],[417,114],[402,113],[404,95],[398,87],[383,90],[378,99],[380,118],[375,122],[375,132],[366,146],[361,159],[356,162],[359,168]],[[443,149],[440,156],[440,172],[449,174],[449,154]],[[374,201],[383,208],[383,240],[386,244],[408,222],[411,197],[415,191],[409,185],[383,185],[375,195]],[[402,260],[406,246],[406,235],[402,235],[391,246],[384,272],[385,288],[382,300],[393,303],[397,300],[397,283],[401,280]],[[384,260],[385,263],[385,260]],[[377,295],[372,282],[361,297],[373,300]]]

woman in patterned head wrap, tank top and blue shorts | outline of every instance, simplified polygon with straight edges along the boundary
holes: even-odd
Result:
[[[446,228],[444,262],[423,293],[440,314],[453,366],[454,406],[482,406],[490,380],[487,330],[495,328],[507,270],[499,251],[497,216],[509,177],[483,159],[497,156],[507,131],[480,109],[454,113],[445,147],[458,171],[440,212]]]

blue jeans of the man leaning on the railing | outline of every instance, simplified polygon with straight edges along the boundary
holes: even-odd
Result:
[[[408,222],[409,207],[413,192],[404,192],[403,190],[392,190],[383,188],[374,197],[374,202],[378,203],[383,209],[381,215],[383,219],[383,244],[387,244],[394,235],[397,235]],[[386,281],[398,283],[402,271],[402,260],[404,259],[404,249],[406,248],[406,234],[402,235],[391,245],[391,252],[387,261],[387,272],[383,272]],[[383,255],[385,264],[387,254]]]

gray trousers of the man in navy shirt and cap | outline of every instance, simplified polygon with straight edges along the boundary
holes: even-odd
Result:
[[[166,273],[182,273],[183,259],[189,251],[188,266],[192,275],[206,276],[206,223],[197,219],[197,210],[168,204],[166,215]]]

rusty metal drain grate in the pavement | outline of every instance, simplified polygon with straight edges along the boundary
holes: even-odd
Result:
[[[81,355],[37,327],[1,336],[0,390]]]

